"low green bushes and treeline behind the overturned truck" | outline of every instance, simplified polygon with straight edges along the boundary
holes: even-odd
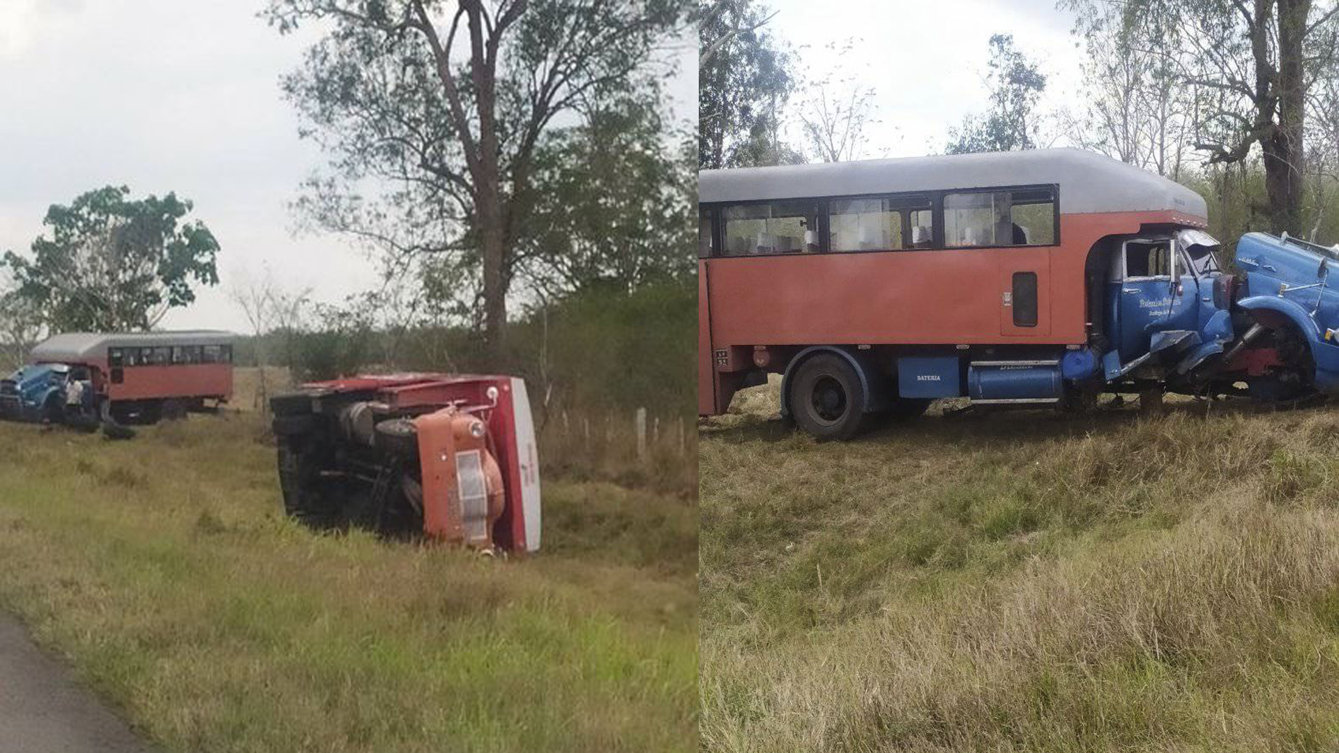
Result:
[[[241,338],[234,360],[285,366],[301,381],[359,371],[507,372],[525,378],[538,421],[562,410],[636,407],[694,415],[696,296],[695,284],[672,281],[632,293],[588,288],[533,307],[507,327],[505,363],[489,358],[481,332],[463,327],[340,320]]]

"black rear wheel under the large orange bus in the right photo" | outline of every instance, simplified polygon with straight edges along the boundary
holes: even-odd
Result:
[[[860,375],[841,356],[819,354],[803,362],[787,391],[795,422],[819,441],[849,439],[865,421]]]

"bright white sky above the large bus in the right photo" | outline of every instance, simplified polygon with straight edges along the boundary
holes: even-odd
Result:
[[[915,157],[944,149],[951,126],[987,109],[990,38],[1012,33],[1015,48],[1047,75],[1042,110],[1078,109],[1082,50],[1074,17],[1054,0],[765,0],[778,11],[767,28],[795,47],[799,68],[819,79],[840,71],[874,88],[881,121],[866,129],[865,157]],[[825,47],[848,39],[838,59]],[[791,105],[802,99],[797,92]],[[791,134],[798,142],[798,135]]]

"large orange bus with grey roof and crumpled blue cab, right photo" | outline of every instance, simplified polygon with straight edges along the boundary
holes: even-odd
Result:
[[[1097,389],[1146,387],[1130,381],[1141,343],[1107,342],[1123,318],[1148,350],[1141,312],[1212,318],[1176,340],[1202,346],[1200,362],[1232,338],[1227,311],[1182,311],[1196,293],[1181,273],[1205,296],[1225,284],[1204,198],[1099,154],[706,170],[699,202],[703,415],[779,372],[782,413],[845,438],[937,398],[1065,403],[1103,372]],[[1137,280],[1161,287],[1111,297]]]

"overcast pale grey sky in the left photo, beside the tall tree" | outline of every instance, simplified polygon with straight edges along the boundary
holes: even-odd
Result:
[[[246,331],[228,289],[265,267],[291,291],[340,300],[376,265],[337,237],[293,237],[288,204],[323,165],[279,91],[303,38],[262,0],[0,0],[0,252],[27,251],[51,204],[103,185],[177,192],[218,237],[221,284],[166,328]],[[695,117],[696,58],[672,91]]]

